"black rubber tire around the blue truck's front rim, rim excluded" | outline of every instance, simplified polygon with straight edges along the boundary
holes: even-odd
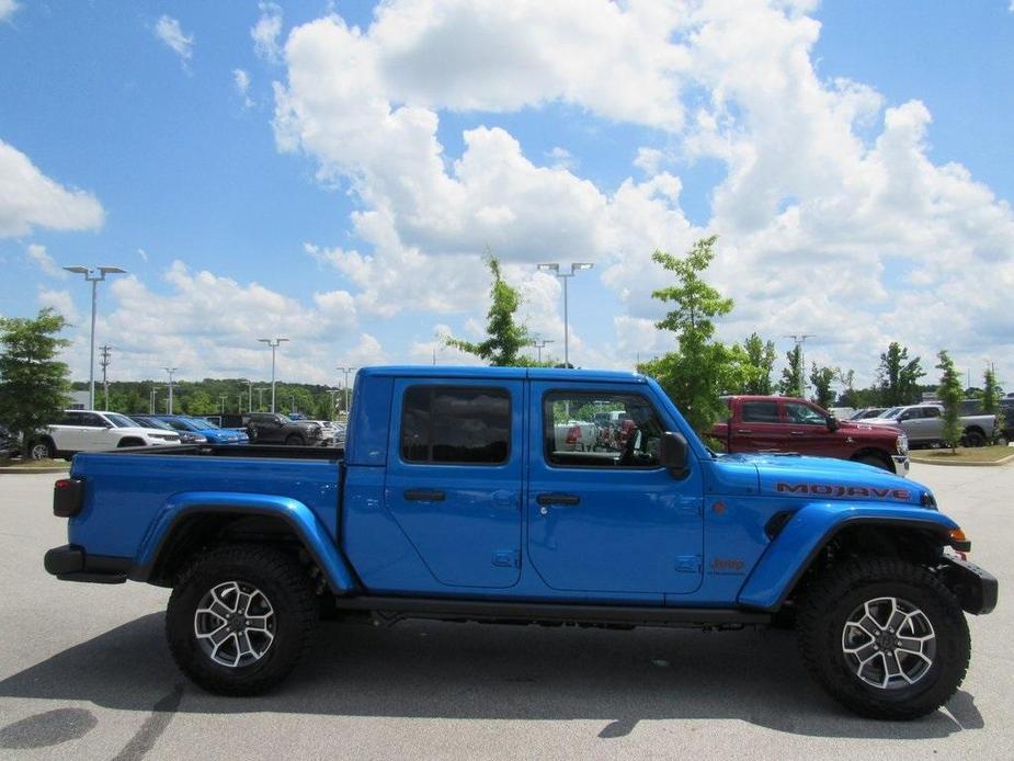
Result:
[[[897,689],[871,686],[843,652],[848,616],[865,602],[897,598],[925,614],[935,635],[933,665]],[[971,639],[957,598],[935,575],[895,558],[857,558],[810,587],[798,623],[799,646],[810,672],[847,708],[878,719],[913,719],[944,705],[968,670]]]

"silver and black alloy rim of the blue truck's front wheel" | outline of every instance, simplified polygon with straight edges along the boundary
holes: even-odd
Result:
[[[842,631],[842,652],[856,677],[881,690],[915,684],[936,656],[930,618],[908,600],[876,598],[856,607]]]

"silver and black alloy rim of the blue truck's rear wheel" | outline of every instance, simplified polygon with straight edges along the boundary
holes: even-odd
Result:
[[[194,635],[205,655],[233,669],[263,658],[274,641],[274,628],[267,597],[242,581],[214,587],[194,613]]]

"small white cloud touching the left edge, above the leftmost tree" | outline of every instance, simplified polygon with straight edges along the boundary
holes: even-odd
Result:
[[[104,218],[93,195],[50,180],[27,156],[0,140],[0,238],[27,235],[33,227],[98,229]]]

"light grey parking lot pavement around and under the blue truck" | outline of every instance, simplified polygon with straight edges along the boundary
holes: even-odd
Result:
[[[913,723],[861,719],[809,679],[787,632],[328,624],[282,688],[191,685],[162,635],[168,591],[60,582],[52,475],[0,475],[0,754],[176,758],[1014,758],[1014,464],[913,465],[1000,579],[972,663]]]

